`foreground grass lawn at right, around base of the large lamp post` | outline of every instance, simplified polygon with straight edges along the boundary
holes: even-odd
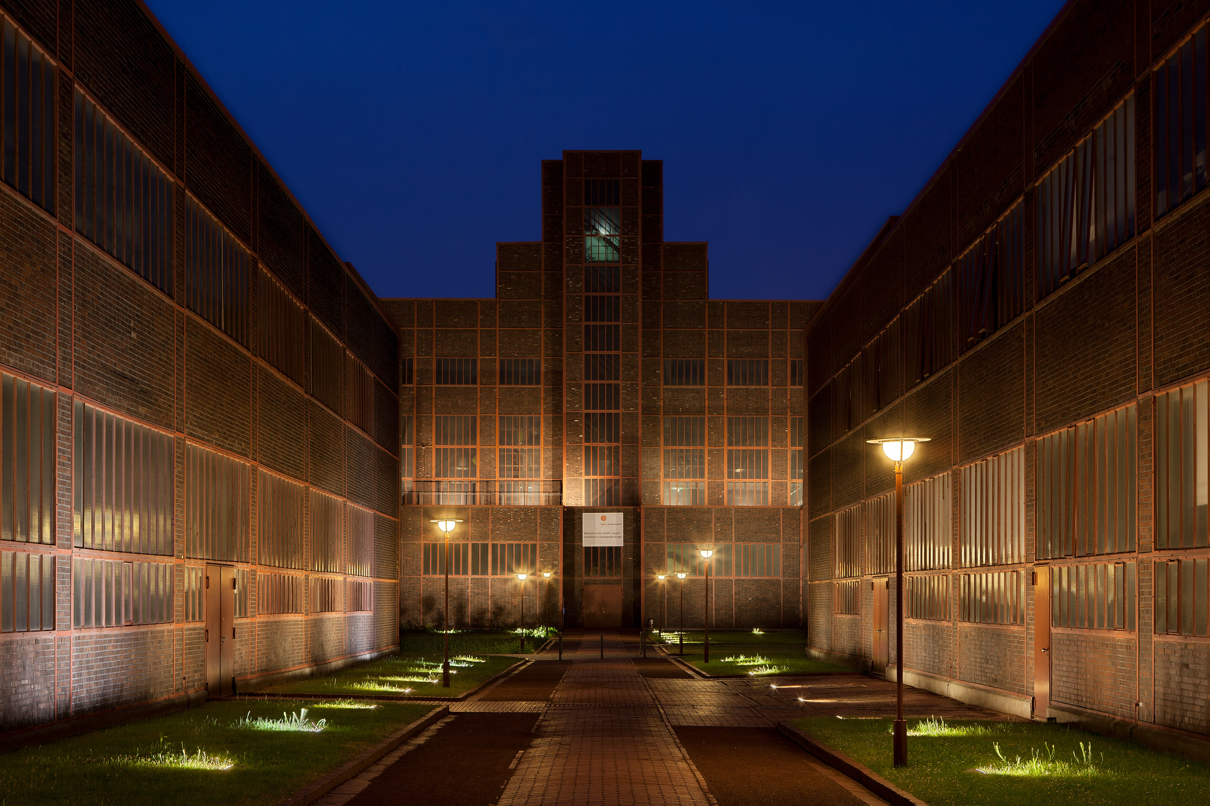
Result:
[[[1210,766],[1065,725],[910,719],[909,764],[897,770],[889,719],[793,724],[933,806],[1210,801]]]

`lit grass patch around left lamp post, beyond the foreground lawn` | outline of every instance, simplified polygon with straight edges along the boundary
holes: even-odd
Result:
[[[502,655],[462,655],[450,648],[450,688],[442,688],[442,654],[391,655],[312,677],[275,685],[275,694],[386,694],[409,697],[455,697],[517,663]]]

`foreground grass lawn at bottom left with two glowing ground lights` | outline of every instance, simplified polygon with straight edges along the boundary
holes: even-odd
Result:
[[[306,723],[271,721],[300,708],[309,709]],[[432,708],[352,701],[208,702],[7,753],[0,764],[0,791],[6,804],[34,806],[273,804]],[[319,720],[327,724],[318,732],[299,730],[313,729]]]

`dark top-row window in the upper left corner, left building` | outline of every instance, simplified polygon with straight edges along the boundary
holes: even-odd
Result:
[[[54,215],[54,106],[58,69],[36,45],[0,17],[4,60],[4,181]]]

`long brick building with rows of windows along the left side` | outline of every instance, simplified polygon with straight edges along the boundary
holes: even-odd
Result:
[[[142,4],[0,4],[0,730],[398,644],[398,337]]]

